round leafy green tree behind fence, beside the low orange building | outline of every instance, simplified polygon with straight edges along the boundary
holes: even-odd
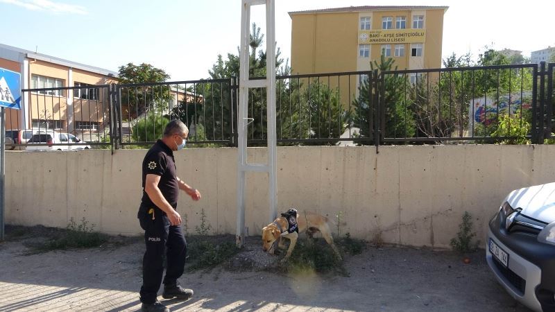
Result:
[[[169,87],[167,85],[151,85],[152,83],[163,83],[170,78],[163,69],[157,69],[151,64],[128,63],[119,67],[118,78],[119,83],[123,85],[121,87],[123,118],[136,119],[148,111],[167,109],[170,98]]]

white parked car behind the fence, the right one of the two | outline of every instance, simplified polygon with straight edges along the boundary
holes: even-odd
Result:
[[[83,150],[91,148],[86,142],[70,133],[50,130],[36,132],[27,141],[27,144],[26,150]]]

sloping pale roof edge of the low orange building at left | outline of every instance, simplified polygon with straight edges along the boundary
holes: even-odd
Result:
[[[53,64],[58,64],[62,66],[71,67],[74,69],[81,69],[83,71],[89,71],[92,73],[99,73],[104,76],[117,77],[118,73],[115,71],[110,71],[108,69],[103,69],[100,67],[94,67],[87,64],[81,64],[78,62],[72,62],[70,60],[64,60],[62,58],[56,58],[51,55],[46,55],[42,53],[35,53],[33,51],[28,51],[25,49],[19,49],[15,46],[8,46],[6,44],[0,44],[0,58],[5,58],[6,60],[12,60],[14,62],[22,62],[23,59],[20,58],[23,55],[24,58],[32,58],[35,60],[42,60],[44,62],[50,62]]]

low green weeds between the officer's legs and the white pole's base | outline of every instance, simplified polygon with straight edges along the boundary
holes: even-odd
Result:
[[[230,260],[239,248],[230,240],[232,236],[191,236],[187,240],[187,272],[214,268]]]

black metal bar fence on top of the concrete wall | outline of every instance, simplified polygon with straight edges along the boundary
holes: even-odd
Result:
[[[278,144],[552,143],[554,71],[541,63],[278,76]],[[26,110],[6,110],[7,148],[144,147],[171,119],[187,125],[192,146],[236,146],[237,81],[24,89]],[[266,89],[248,98],[248,144],[265,146]],[[43,141],[51,133],[58,139]]]

